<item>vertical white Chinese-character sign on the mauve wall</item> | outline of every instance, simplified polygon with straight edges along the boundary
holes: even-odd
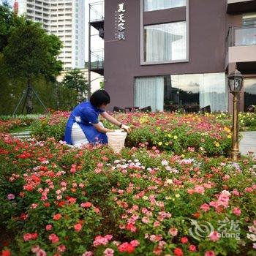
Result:
[[[118,4],[118,8],[115,14],[115,38],[118,40],[125,40],[125,29],[126,29],[126,20],[125,20],[124,3]]]

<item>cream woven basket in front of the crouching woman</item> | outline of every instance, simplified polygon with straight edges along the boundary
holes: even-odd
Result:
[[[119,153],[124,148],[125,138],[127,138],[127,132],[122,130],[116,130],[115,132],[107,132],[108,146],[113,149],[114,152]]]

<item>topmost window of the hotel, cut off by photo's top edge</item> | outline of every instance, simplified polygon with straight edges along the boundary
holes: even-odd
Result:
[[[144,0],[145,12],[184,6],[186,6],[186,0]]]

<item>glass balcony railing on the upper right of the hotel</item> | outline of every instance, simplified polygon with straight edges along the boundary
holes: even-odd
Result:
[[[233,26],[227,32],[227,48],[256,45],[256,25]]]

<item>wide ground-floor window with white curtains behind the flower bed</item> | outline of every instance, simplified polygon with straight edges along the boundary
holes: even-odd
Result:
[[[152,111],[196,112],[208,105],[212,112],[226,111],[225,73],[135,78],[134,97],[135,107],[151,106]]]

